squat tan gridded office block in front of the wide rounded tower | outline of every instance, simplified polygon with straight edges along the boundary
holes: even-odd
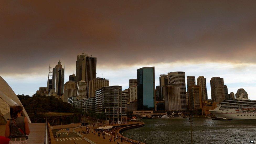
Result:
[[[185,77],[185,76],[184,76]],[[180,110],[181,109],[181,93],[180,87],[175,84],[167,84],[163,86],[164,92],[164,109],[168,110]]]

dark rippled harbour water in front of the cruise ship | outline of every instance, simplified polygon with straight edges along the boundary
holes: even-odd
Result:
[[[145,126],[123,135],[148,144],[191,143],[188,118],[142,119]],[[250,143],[256,140],[256,120],[216,121],[193,118],[193,143]]]

